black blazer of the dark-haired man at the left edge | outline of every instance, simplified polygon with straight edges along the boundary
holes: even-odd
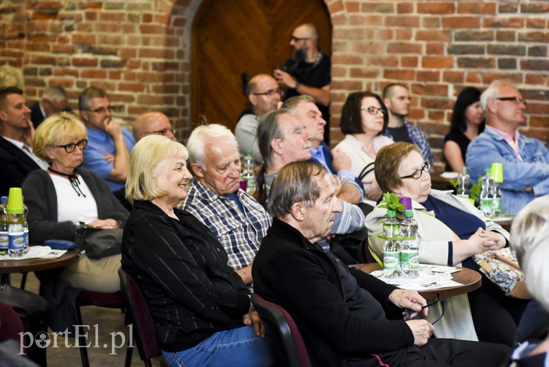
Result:
[[[5,196],[10,188],[20,188],[33,170],[40,166],[20,148],[0,136],[0,195]]]

